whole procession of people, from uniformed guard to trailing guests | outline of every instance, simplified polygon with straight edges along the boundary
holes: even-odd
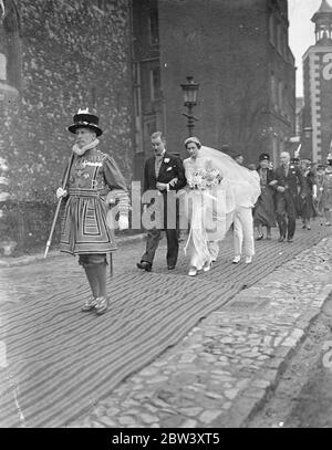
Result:
[[[75,135],[75,143],[66,175],[56,190],[64,203],[60,250],[77,255],[85,271],[91,297],[82,311],[101,315],[108,308],[107,254],[116,250],[110,205],[117,201],[117,227],[127,229],[129,192],[114,158],[98,149],[103,134],[98,117],[80,109],[69,132]],[[143,193],[154,192],[153,216],[160,216],[162,220],[153,221],[147,231],[145,252],[136,264],[139,270],[152,270],[163,231],[168,270],[176,268],[179,237],[187,231],[184,250],[190,251],[188,275],[196,276],[211,269],[230,229],[232,263],[239,263],[243,257],[250,264],[255,239],[271,240],[273,227],[279,228],[279,242],[292,242],[299,217],[307,230],[315,216],[331,226],[332,154],[326,166],[314,166],[305,159],[291,159],[289,153],[282,151],[280,166],[273,168],[269,154],[263,153],[257,165],[245,167],[243,155],[231,157],[201,145],[197,137],[185,140],[188,158],[184,160],[166,149],[160,132],[154,133],[151,142],[154,155],[145,161]],[[173,202],[168,201],[170,198]]]

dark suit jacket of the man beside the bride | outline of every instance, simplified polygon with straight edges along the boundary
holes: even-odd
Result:
[[[178,190],[186,186],[185,169],[180,158],[166,151],[157,178],[155,172],[155,157],[152,156],[145,161],[144,192],[148,189],[157,189],[157,182],[169,182],[173,178],[177,178],[178,181],[174,187],[170,187],[170,190]],[[163,192],[166,192],[166,190]]]

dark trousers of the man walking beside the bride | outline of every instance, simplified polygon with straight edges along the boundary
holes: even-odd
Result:
[[[155,252],[159,245],[162,231],[163,230],[156,228],[148,231],[146,250],[141,261],[146,261],[149,262],[151,264],[153,263]],[[177,237],[178,231],[176,229],[174,230],[166,229],[165,233],[167,239],[167,254],[166,254],[167,265],[176,265],[178,255],[178,237]]]

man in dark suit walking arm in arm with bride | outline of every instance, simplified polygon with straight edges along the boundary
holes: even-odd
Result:
[[[166,232],[167,239],[167,266],[173,270],[177,262],[178,236],[176,226],[167,227],[167,192],[177,191],[186,186],[185,169],[181,160],[166,153],[166,139],[160,132],[151,136],[154,156],[148,158],[144,167],[144,192],[147,190],[158,190],[164,200],[164,223],[160,228],[153,228],[147,233],[146,250],[137,268],[151,272],[155,252],[160,241],[162,230]],[[176,211],[174,211],[174,217]]]

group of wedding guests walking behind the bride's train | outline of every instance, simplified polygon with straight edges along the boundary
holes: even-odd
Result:
[[[313,164],[309,159],[280,155],[280,167],[273,169],[268,154],[259,157],[258,174],[261,196],[253,209],[257,240],[271,239],[271,228],[279,227],[279,241],[292,242],[295,220],[302,229],[310,230],[310,221],[320,218],[321,224],[331,226],[332,208],[332,154],[326,164]]]

